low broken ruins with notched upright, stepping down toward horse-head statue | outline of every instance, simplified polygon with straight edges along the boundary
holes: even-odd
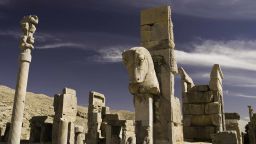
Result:
[[[134,120],[111,114],[105,96],[91,91],[88,109],[88,144],[135,144]]]

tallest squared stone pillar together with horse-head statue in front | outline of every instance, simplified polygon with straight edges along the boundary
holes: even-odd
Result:
[[[141,12],[141,45],[122,54],[134,95],[136,143],[183,143],[170,7]]]

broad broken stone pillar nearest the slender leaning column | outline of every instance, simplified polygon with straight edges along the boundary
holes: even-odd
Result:
[[[62,94],[54,96],[53,143],[75,143],[75,126],[77,115],[76,91],[64,88]]]

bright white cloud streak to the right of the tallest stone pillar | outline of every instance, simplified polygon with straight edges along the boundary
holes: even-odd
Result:
[[[256,41],[212,41],[188,44],[191,52],[176,50],[180,64],[212,66],[256,71]]]

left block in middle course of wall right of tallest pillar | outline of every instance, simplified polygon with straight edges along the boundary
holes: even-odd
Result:
[[[204,104],[183,104],[183,114],[204,114]]]

